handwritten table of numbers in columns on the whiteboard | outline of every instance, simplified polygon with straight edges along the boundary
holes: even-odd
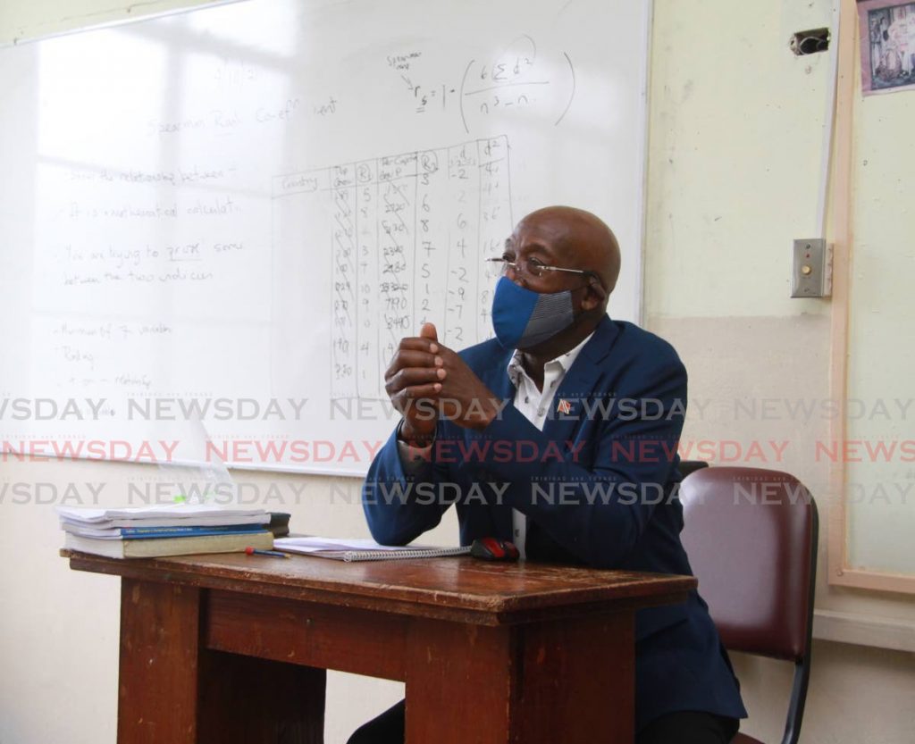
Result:
[[[481,258],[511,233],[510,178],[505,136],[274,178],[280,239],[298,224],[302,250],[332,255],[333,397],[385,398],[397,344],[425,322],[458,348],[491,336],[498,271]]]

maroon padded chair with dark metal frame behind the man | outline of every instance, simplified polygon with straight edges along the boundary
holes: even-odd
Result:
[[[816,502],[788,473],[757,468],[696,470],[680,499],[686,553],[722,642],[794,663],[781,742],[796,744],[810,679]]]

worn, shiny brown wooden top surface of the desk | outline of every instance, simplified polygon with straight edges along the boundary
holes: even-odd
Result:
[[[485,625],[673,604],[696,586],[694,577],[463,556],[344,563],[308,555],[60,555],[80,571]]]

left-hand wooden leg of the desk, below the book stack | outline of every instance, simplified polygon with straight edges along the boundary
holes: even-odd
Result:
[[[324,670],[203,648],[205,596],[122,579],[118,744],[323,744]]]

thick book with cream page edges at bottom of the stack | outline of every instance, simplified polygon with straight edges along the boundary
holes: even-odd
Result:
[[[98,540],[66,533],[63,546],[68,550],[109,558],[160,558],[166,555],[243,553],[249,546],[270,550],[274,546],[274,534],[263,530],[245,534],[156,537],[151,540]]]

